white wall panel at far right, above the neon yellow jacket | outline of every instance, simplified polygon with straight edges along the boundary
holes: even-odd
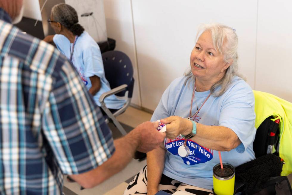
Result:
[[[255,89],[292,102],[292,1],[259,0]]]

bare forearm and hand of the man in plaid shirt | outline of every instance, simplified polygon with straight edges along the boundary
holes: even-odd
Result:
[[[114,141],[116,151],[106,162],[97,168],[71,175],[71,178],[85,188],[92,188],[110,176],[121,171],[132,159],[134,153],[149,152],[159,147],[165,138],[165,133],[157,131],[158,122],[144,122],[131,130],[126,136]]]

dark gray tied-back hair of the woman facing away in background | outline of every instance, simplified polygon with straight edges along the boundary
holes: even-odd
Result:
[[[54,21],[60,22],[74,35],[80,36],[83,33],[84,28],[78,24],[78,15],[72,6],[65,3],[57,4],[52,8],[51,14]]]

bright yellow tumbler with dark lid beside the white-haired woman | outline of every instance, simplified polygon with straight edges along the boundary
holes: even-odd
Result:
[[[229,163],[220,163],[213,167],[213,188],[217,195],[233,195],[234,194],[234,167]]]

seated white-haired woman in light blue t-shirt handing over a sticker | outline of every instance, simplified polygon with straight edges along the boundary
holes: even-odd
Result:
[[[234,167],[255,158],[254,95],[237,70],[237,34],[205,24],[197,37],[190,71],[164,91],[151,119],[167,123],[167,139],[147,153],[147,166],[124,194],[209,194],[218,151]]]

